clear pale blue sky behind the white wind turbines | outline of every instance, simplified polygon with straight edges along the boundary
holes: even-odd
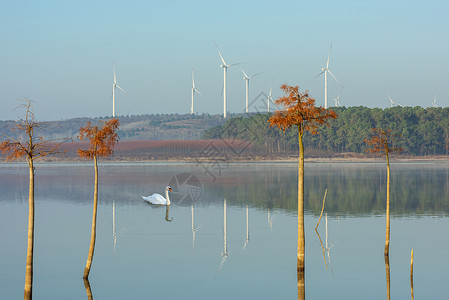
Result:
[[[38,120],[112,115],[222,114],[223,69],[241,63],[250,102],[282,84],[328,101],[389,107],[449,105],[449,2],[440,1],[4,1],[0,10],[0,120],[33,100]],[[239,66],[227,72],[227,110],[245,109]],[[257,100],[259,101],[259,100]],[[260,100],[262,101],[262,100]],[[254,106],[254,105],[253,105]],[[250,107],[250,111],[257,108]]]

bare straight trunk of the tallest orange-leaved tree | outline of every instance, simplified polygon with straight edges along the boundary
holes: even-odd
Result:
[[[298,142],[299,142],[299,165],[298,165],[298,262],[297,271],[304,272],[304,252],[305,252],[305,236],[304,236],[304,144],[302,141],[302,130],[298,126]]]

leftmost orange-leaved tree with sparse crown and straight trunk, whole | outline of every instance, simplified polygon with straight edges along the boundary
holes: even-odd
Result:
[[[37,131],[44,127],[51,126],[50,123],[37,122],[34,117],[31,100],[19,107],[25,109],[25,119],[14,124],[12,131],[17,132],[17,138],[6,136],[6,140],[0,143],[0,151],[6,155],[6,160],[18,160],[26,158],[29,169],[29,190],[28,190],[28,242],[27,260],[25,270],[24,299],[33,297],[33,253],[34,253],[34,160],[58,152],[63,140],[44,140],[38,136]]]

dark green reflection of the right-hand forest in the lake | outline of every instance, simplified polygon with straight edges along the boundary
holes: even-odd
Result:
[[[306,166],[307,168],[307,166]],[[448,169],[419,170],[397,167],[391,178],[391,211],[395,215],[449,213]],[[305,177],[306,213],[319,215],[324,192],[326,211],[334,214],[384,214],[386,170],[383,165],[366,164],[346,168],[333,165],[312,166]],[[254,172],[235,184],[233,189],[210,186],[209,193],[219,198],[222,193],[228,205],[244,205],[265,209],[282,209],[296,213],[297,178],[291,170]],[[245,173],[245,172],[244,172]],[[242,175],[245,176],[245,175]],[[219,199],[218,199],[219,200]]]

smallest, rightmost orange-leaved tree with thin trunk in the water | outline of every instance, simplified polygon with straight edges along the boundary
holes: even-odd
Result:
[[[385,256],[390,252],[390,154],[397,151],[403,151],[399,146],[395,146],[396,139],[399,135],[394,134],[391,129],[384,130],[382,128],[373,128],[370,140],[365,139],[365,149],[372,154],[385,155],[387,158],[387,208],[386,208],[386,229],[385,229]]]

